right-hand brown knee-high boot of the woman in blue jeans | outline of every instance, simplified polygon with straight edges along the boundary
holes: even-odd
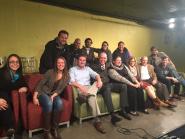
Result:
[[[62,139],[58,131],[59,120],[60,120],[60,112],[53,111],[51,134],[54,139]]]

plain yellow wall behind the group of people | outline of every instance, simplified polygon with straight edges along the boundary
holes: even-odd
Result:
[[[136,57],[148,55],[151,45],[165,49],[165,31],[159,29],[30,1],[0,1],[0,56],[17,53],[39,61],[44,45],[61,29],[70,33],[69,44],[91,37],[94,47],[106,40],[113,51],[122,40]]]

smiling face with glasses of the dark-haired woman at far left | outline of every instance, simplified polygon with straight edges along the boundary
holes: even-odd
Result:
[[[17,57],[11,56],[8,61],[10,70],[17,71],[20,68],[20,61]]]

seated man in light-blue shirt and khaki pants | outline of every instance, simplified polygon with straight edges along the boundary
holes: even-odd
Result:
[[[86,55],[79,55],[77,59],[77,66],[72,67],[69,71],[70,84],[78,89],[79,96],[85,97],[89,104],[94,118],[94,127],[100,133],[105,133],[104,128],[98,116],[100,115],[99,106],[97,104],[97,91],[102,87],[102,81],[95,71],[86,65]],[[96,82],[90,84],[90,79],[93,78]]]

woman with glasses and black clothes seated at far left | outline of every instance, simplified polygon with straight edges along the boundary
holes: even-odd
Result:
[[[16,132],[15,137],[21,139],[21,118],[17,129],[14,127],[13,106],[11,91],[18,90],[19,93],[27,92],[27,84],[22,74],[22,64],[20,57],[11,54],[7,63],[0,69],[0,128],[7,131],[7,136],[11,138]]]

